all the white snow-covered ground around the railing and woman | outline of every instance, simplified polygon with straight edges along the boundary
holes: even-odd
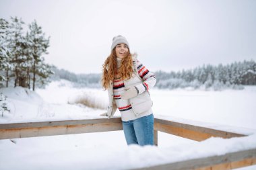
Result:
[[[36,93],[21,87],[0,92],[8,96],[11,108],[0,124],[102,118],[100,108],[106,107],[108,99],[106,91],[73,89],[67,81],[55,81]],[[256,87],[241,91],[152,89],[151,96],[155,118],[245,134],[256,131]],[[95,108],[74,104],[88,97]],[[158,132],[158,147],[127,146],[123,131],[19,138],[0,140],[0,169],[129,169],[255,147],[255,135],[195,142]]]

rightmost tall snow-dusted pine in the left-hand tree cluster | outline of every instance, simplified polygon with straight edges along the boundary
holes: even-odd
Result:
[[[40,66],[44,64],[42,62],[42,54],[48,54],[47,48],[49,47],[49,38],[45,38],[45,34],[42,32],[42,27],[38,26],[36,20],[29,25],[30,33],[29,40],[32,49],[33,63],[32,63],[32,74],[33,74],[33,91],[36,83],[36,73],[42,73],[38,71],[38,68],[45,68]]]

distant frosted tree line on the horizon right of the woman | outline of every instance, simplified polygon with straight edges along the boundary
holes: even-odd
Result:
[[[203,65],[195,69],[170,73],[157,71],[156,87],[160,89],[175,89],[202,87],[207,89],[240,88],[241,85],[256,85],[256,62],[244,60],[230,65]]]

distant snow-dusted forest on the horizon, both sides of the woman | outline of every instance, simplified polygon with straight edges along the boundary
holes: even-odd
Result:
[[[71,73],[63,69],[53,68],[54,75],[51,81],[66,79],[73,82],[74,87],[101,88],[101,74]],[[245,60],[233,62],[230,65],[203,65],[195,69],[170,73],[164,71],[154,72],[158,89],[243,89],[243,85],[256,85],[256,62]]]

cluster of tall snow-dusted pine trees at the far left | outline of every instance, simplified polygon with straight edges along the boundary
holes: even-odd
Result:
[[[33,91],[36,83],[46,83],[53,75],[52,66],[44,62],[50,37],[42,32],[36,20],[28,24],[26,34],[22,18],[0,18],[0,87],[22,86]]]

